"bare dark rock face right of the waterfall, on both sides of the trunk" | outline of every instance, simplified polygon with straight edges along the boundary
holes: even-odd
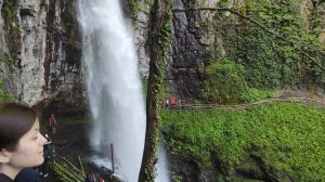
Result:
[[[131,1],[131,0],[130,0]],[[197,6],[216,6],[219,0],[173,0],[172,9],[188,9]],[[134,2],[133,2],[134,3]],[[139,12],[133,17],[134,40],[138,46],[140,60],[140,72],[147,76],[148,52],[146,42],[147,26],[150,24],[148,1],[139,1]],[[133,4],[134,5],[134,4]],[[170,94],[194,96],[200,86],[205,65],[214,56],[222,54],[221,40],[213,37],[213,27],[209,25],[213,13],[210,12],[179,12],[172,15],[172,47],[170,55],[170,67],[167,70],[166,82],[171,88]],[[207,25],[207,26],[204,26]],[[219,53],[211,55],[211,51],[218,48]]]

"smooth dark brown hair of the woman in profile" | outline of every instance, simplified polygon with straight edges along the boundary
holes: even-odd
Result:
[[[37,114],[17,103],[0,103],[0,150],[16,150],[20,139],[30,130]]]

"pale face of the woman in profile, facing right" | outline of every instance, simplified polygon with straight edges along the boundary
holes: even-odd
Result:
[[[30,130],[18,141],[12,152],[10,165],[14,168],[39,166],[44,161],[43,145],[47,139],[39,132],[39,121],[36,119]]]

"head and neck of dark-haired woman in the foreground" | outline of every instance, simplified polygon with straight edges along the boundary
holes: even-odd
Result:
[[[24,168],[41,165],[46,142],[34,109],[17,103],[0,103],[1,182],[13,182]]]

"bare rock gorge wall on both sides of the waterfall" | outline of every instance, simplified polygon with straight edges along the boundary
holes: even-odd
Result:
[[[146,77],[150,62],[147,29],[153,0],[122,2],[134,30],[139,70]],[[221,1],[171,2],[172,9],[191,9],[213,8]],[[242,2],[245,1],[237,3]],[[301,10],[311,10],[313,5],[324,10],[323,1],[303,2],[309,8]],[[235,5],[233,1],[222,3],[227,8]],[[15,100],[49,112],[68,114],[87,109],[76,4],[77,0],[0,0],[0,78]],[[171,14],[170,66],[165,79],[171,88],[170,94],[193,98],[209,62],[229,53],[222,35],[217,32],[218,21],[222,20],[211,11]],[[231,34],[234,27],[227,24],[222,28]],[[324,42],[324,31],[320,41]]]

